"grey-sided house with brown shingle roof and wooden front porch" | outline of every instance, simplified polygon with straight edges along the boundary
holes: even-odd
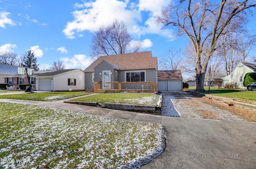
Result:
[[[151,51],[101,56],[84,73],[85,89],[94,92],[157,91],[157,57]]]

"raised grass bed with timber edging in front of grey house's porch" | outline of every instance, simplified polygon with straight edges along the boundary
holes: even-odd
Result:
[[[70,101],[80,102],[111,102],[111,103],[130,103],[156,105],[160,95],[153,93],[104,93],[82,98],[76,98]]]

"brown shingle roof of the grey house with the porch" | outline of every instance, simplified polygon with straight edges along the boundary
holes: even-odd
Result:
[[[143,69],[156,67],[157,57],[152,57],[151,51],[124,53],[119,55],[101,56],[88,66],[84,71],[93,71],[100,62],[106,61],[123,69]]]

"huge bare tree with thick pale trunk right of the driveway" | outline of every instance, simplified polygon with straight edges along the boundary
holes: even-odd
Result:
[[[226,26],[236,24],[255,7],[251,0],[180,0],[162,11],[157,22],[178,27],[178,35],[185,34],[193,45],[196,59],[196,90],[204,90],[204,77],[210,57],[216,50],[216,43]],[[236,21],[236,22],[234,22]]]

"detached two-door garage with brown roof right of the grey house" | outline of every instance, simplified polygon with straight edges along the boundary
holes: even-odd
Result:
[[[180,70],[158,71],[158,90],[175,91],[182,90],[182,74]]]

